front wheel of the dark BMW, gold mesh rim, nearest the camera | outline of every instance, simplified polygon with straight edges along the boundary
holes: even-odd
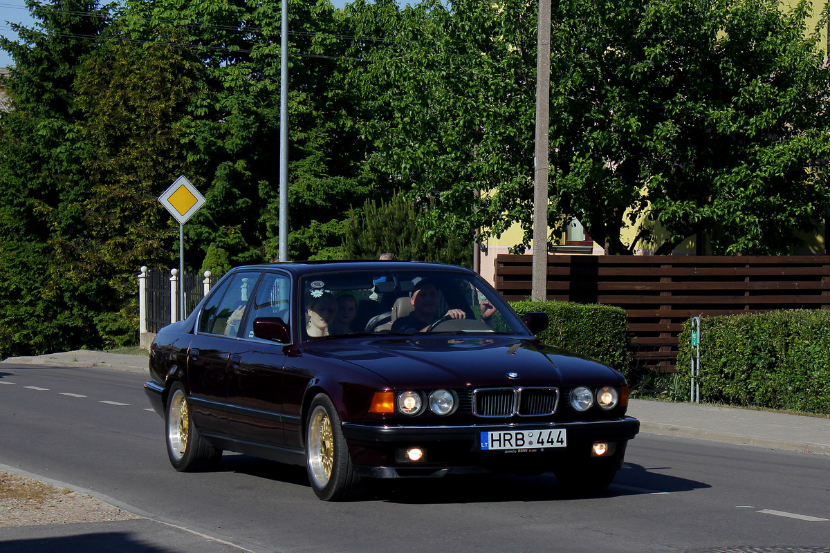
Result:
[[[305,465],[311,489],[324,501],[344,501],[360,487],[337,410],[324,394],[311,402],[305,421]]]

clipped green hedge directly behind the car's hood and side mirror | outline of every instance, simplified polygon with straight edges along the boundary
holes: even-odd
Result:
[[[628,318],[622,308],[569,302],[510,302],[516,313],[548,313],[549,327],[540,339],[579,355],[593,357],[627,375]]]

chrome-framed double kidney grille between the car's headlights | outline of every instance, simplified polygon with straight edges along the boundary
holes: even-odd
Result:
[[[479,417],[553,415],[557,388],[481,388],[472,392],[472,412]]]

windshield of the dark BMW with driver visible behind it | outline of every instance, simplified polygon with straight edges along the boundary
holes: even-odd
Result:
[[[417,332],[527,332],[477,275],[374,270],[302,282],[305,337]]]

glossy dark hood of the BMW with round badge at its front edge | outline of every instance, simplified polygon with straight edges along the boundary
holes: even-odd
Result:
[[[315,342],[309,349],[362,366],[393,386],[590,386],[624,381],[598,361],[516,337],[352,338]]]

